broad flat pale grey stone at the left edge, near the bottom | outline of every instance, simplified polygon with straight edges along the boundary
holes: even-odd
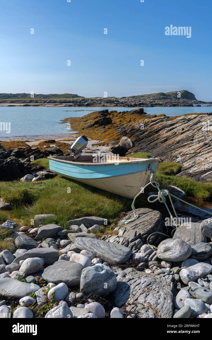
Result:
[[[0,283],[0,294],[16,299],[28,296],[32,292],[35,293],[39,289],[40,287],[38,285],[24,283],[11,277],[2,278]]]

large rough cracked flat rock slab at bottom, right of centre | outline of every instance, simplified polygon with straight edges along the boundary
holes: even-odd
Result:
[[[139,318],[172,318],[173,294],[171,285],[163,278],[156,278],[127,268],[114,269],[117,288],[111,293],[114,305],[125,305],[130,313]]]

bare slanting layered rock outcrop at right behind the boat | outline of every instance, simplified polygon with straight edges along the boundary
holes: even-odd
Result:
[[[143,124],[143,125],[142,125]],[[212,177],[212,113],[169,117],[151,117],[130,122],[116,129],[121,136],[131,137],[133,152],[149,152],[165,162],[179,162],[181,172],[200,182]]]

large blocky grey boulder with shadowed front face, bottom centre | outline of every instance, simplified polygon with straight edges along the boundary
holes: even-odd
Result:
[[[108,295],[116,289],[117,280],[114,272],[107,266],[97,264],[83,269],[80,291],[85,295]]]

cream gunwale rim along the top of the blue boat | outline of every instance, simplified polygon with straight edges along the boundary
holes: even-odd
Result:
[[[86,162],[73,162],[71,160],[64,160],[64,159],[58,159],[58,156],[49,156],[47,158],[52,159],[52,160],[56,160],[57,162],[63,162],[63,163],[69,163],[69,164],[74,164],[74,165],[114,165],[117,163],[119,164],[134,164],[134,163],[150,163],[150,162],[161,162],[161,159],[159,158],[133,158],[133,157],[119,157],[119,160],[116,162],[108,162],[108,163],[86,163]],[[61,157],[61,156],[60,156]],[[62,156],[63,157],[63,156]],[[64,156],[65,157],[65,156]],[[126,160],[126,161],[122,161],[120,160],[120,158],[129,158],[131,160]]]

